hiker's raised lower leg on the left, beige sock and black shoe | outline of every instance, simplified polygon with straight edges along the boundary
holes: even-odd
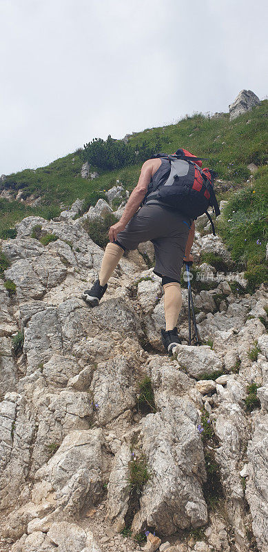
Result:
[[[87,289],[82,293],[82,299],[84,299],[88,305],[99,305],[101,298],[107,290],[107,282],[110,276],[112,276],[114,268],[118,265],[123,253],[123,247],[112,242],[107,244],[101,263],[99,279],[94,282],[91,289]]]

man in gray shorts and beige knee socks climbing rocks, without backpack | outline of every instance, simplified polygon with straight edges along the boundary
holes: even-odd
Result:
[[[83,292],[82,298],[89,306],[98,305],[125,249],[134,250],[141,242],[151,241],[156,256],[154,273],[162,277],[165,293],[166,328],[161,329],[161,339],[167,353],[172,354],[172,348],[181,343],[176,328],[182,304],[181,267],[183,258],[192,262],[189,253],[194,241],[194,220],[160,199],[148,197],[141,206],[149,184],[151,189],[152,185],[157,186],[168,169],[170,172],[170,162],[163,157],[145,161],[121,219],[110,227],[110,243],[105,248],[99,279]]]

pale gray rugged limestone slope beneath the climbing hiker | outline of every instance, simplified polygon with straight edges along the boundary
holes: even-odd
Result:
[[[121,259],[98,307],[79,298],[103,256],[81,219],[28,217],[0,244],[10,260],[3,278],[16,284],[9,295],[0,279],[0,550],[131,552],[142,546],[134,535],[155,531],[167,542],[161,551],[266,552],[267,290],[236,297],[218,275],[217,288],[194,296],[200,337],[213,350],[187,346],[183,290],[183,344],[169,358],[161,280],[141,272],[140,255],[139,264]],[[31,237],[37,225],[59,239],[43,246]],[[231,270],[208,231],[196,233],[196,262],[213,251]],[[145,376],[155,402],[147,410],[137,400]],[[247,411],[252,382],[260,408]],[[130,466],[143,457],[150,477],[138,496]]]

